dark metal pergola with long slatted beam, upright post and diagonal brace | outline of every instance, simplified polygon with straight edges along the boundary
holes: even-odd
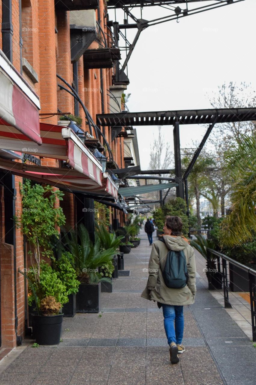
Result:
[[[177,110],[156,112],[122,112],[120,114],[98,114],[97,122],[100,126],[173,126],[174,138],[174,162],[176,196],[186,199],[187,214],[189,215],[187,177],[194,166],[212,128],[218,123],[256,121],[256,108],[233,108],[233,109],[200,109],[200,110]],[[209,124],[199,147],[182,175],[181,148],[179,126],[183,124]],[[164,171],[164,172],[161,172]],[[168,170],[143,171],[140,174],[155,173],[163,174]],[[171,170],[169,170],[171,171]],[[185,194],[184,194],[185,188]]]

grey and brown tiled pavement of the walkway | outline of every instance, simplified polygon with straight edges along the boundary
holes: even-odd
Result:
[[[28,342],[24,349],[23,343],[0,363],[0,385],[256,383],[256,348],[199,275],[196,303],[184,308],[186,352],[178,364],[169,362],[162,312],[140,296],[151,251],[141,233],[141,245],[124,256],[131,275],[114,280],[113,293],[102,293],[102,313],[64,318],[58,346]],[[200,263],[197,258],[199,273]]]

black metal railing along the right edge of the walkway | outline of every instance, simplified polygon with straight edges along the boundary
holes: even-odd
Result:
[[[213,274],[208,274],[208,283],[209,283],[209,290],[214,289],[218,290],[223,287],[223,295],[224,295],[224,307],[225,308],[232,308],[231,303],[229,302],[229,284],[236,286],[238,289],[241,290],[241,292],[246,293],[241,287],[238,286],[238,284],[235,284],[233,280],[233,274],[240,276],[243,278],[243,280],[247,281],[249,284],[249,295],[250,295],[250,310],[251,310],[251,327],[252,327],[252,333],[253,333],[253,341],[256,341],[256,270],[249,268],[248,266],[239,263],[235,261],[232,258],[229,258],[225,254],[219,253],[218,251],[215,251],[213,249],[207,249],[207,266],[210,268],[212,266],[212,257],[211,254],[216,257],[217,261],[217,271],[218,275],[217,277]],[[227,262],[228,262],[228,268],[229,268],[229,274],[228,274],[228,268],[227,268]],[[234,266],[241,269],[242,271],[245,271],[248,274],[248,278],[245,278],[244,276],[240,275],[237,271],[234,271]],[[209,273],[209,271],[208,271]],[[210,271],[211,273],[211,271]],[[232,275],[230,274],[232,273]],[[242,286],[242,285],[241,285]],[[237,297],[236,297],[237,299]],[[241,302],[242,303],[242,302]],[[233,305],[234,307],[234,305]],[[249,309],[249,308],[248,308]],[[237,309],[236,309],[237,310]],[[237,310],[238,311],[238,310]],[[240,313],[241,315],[241,313]],[[243,316],[243,315],[242,315]]]

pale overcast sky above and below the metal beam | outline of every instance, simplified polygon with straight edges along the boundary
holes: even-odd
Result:
[[[145,7],[142,17],[151,20],[163,12],[169,14],[159,7]],[[207,94],[214,95],[224,82],[251,82],[256,89],[255,15],[256,1],[244,0],[142,31],[128,63],[130,112],[211,108]],[[135,128],[141,169],[148,169],[157,127]],[[173,151],[172,129],[164,126],[162,131]],[[181,147],[191,147],[205,130],[181,126]]]

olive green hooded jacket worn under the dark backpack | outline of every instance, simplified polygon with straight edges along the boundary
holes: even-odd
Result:
[[[196,262],[193,248],[181,236],[164,235],[164,242],[154,242],[149,259],[149,278],[141,297],[166,305],[191,305],[196,295]],[[183,250],[187,261],[189,280],[184,288],[167,288],[162,277],[169,250]]]

